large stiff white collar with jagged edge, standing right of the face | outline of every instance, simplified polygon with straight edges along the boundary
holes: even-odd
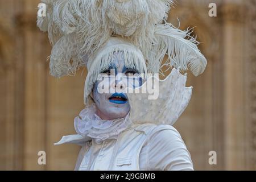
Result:
[[[157,99],[150,99],[152,94],[137,94],[140,90],[158,88]],[[164,80],[152,76],[144,84],[135,89],[130,89],[127,97],[130,104],[130,119],[133,123],[154,123],[156,125],[174,125],[191,99],[192,86],[186,87],[187,76],[180,73],[179,68],[173,68],[170,75]],[[154,85],[158,83],[158,85]]]

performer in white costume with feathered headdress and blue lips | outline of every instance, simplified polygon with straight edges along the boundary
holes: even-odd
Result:
[[[87,67],[85,109],[77,134],[59,142],[82,148],[76,170],[193,170],[191,156],[172,127],[191,98],[185,71],[204,72],[207,60],[191,30],[167,23],[171,0],[42,0],[38,27],[53,45],[51,75]],[[164,56],[167,60],[164,60]],[[148,73],[171,73],[164,80]],[[145,75],[142,77],[142,75]],[[114,79],[112,79],[114,78]],[[159,92],[147,90],[154,80]],[[101,86],[114,92],[100,92]],[[126,92],[128,91],[128,92]]]

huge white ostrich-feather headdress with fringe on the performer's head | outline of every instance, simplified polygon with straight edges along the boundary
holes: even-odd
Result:
[[[207,65],[191,31],[181,31],[166,22],[172,0],[42,2],[46,3],[46,17],[38,17],[38,27],[48,31],[53,46],[51,75],[72,75],[79,67],[87,67],[85,100],[115,51],[124,52],[128,67],[147,73],[179,67],[198,76]],[[166,55],[167,61],[163,61]]]

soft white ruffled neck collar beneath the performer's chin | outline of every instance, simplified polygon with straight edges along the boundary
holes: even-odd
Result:
[[[117,139],[119,133],[131,126],[129,114],[125,118],[101,119],[96,113],[95,104],[83,109],[75,118],[75,129],[77,134],[90,137],[96,143],[106,139]]]

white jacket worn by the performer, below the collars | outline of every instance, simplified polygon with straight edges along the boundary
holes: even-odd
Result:
[[[81,148],[75,170],[193,170],[191,156],[170,125],[133,125],[117,139]]]

